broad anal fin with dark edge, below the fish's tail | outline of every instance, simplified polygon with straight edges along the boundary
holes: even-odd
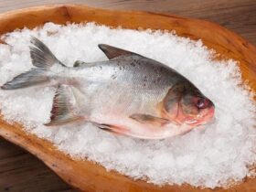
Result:
[[[70,123],[83,119],[69,86],[59,85],[53,99],[50,122],[47,126]]]

